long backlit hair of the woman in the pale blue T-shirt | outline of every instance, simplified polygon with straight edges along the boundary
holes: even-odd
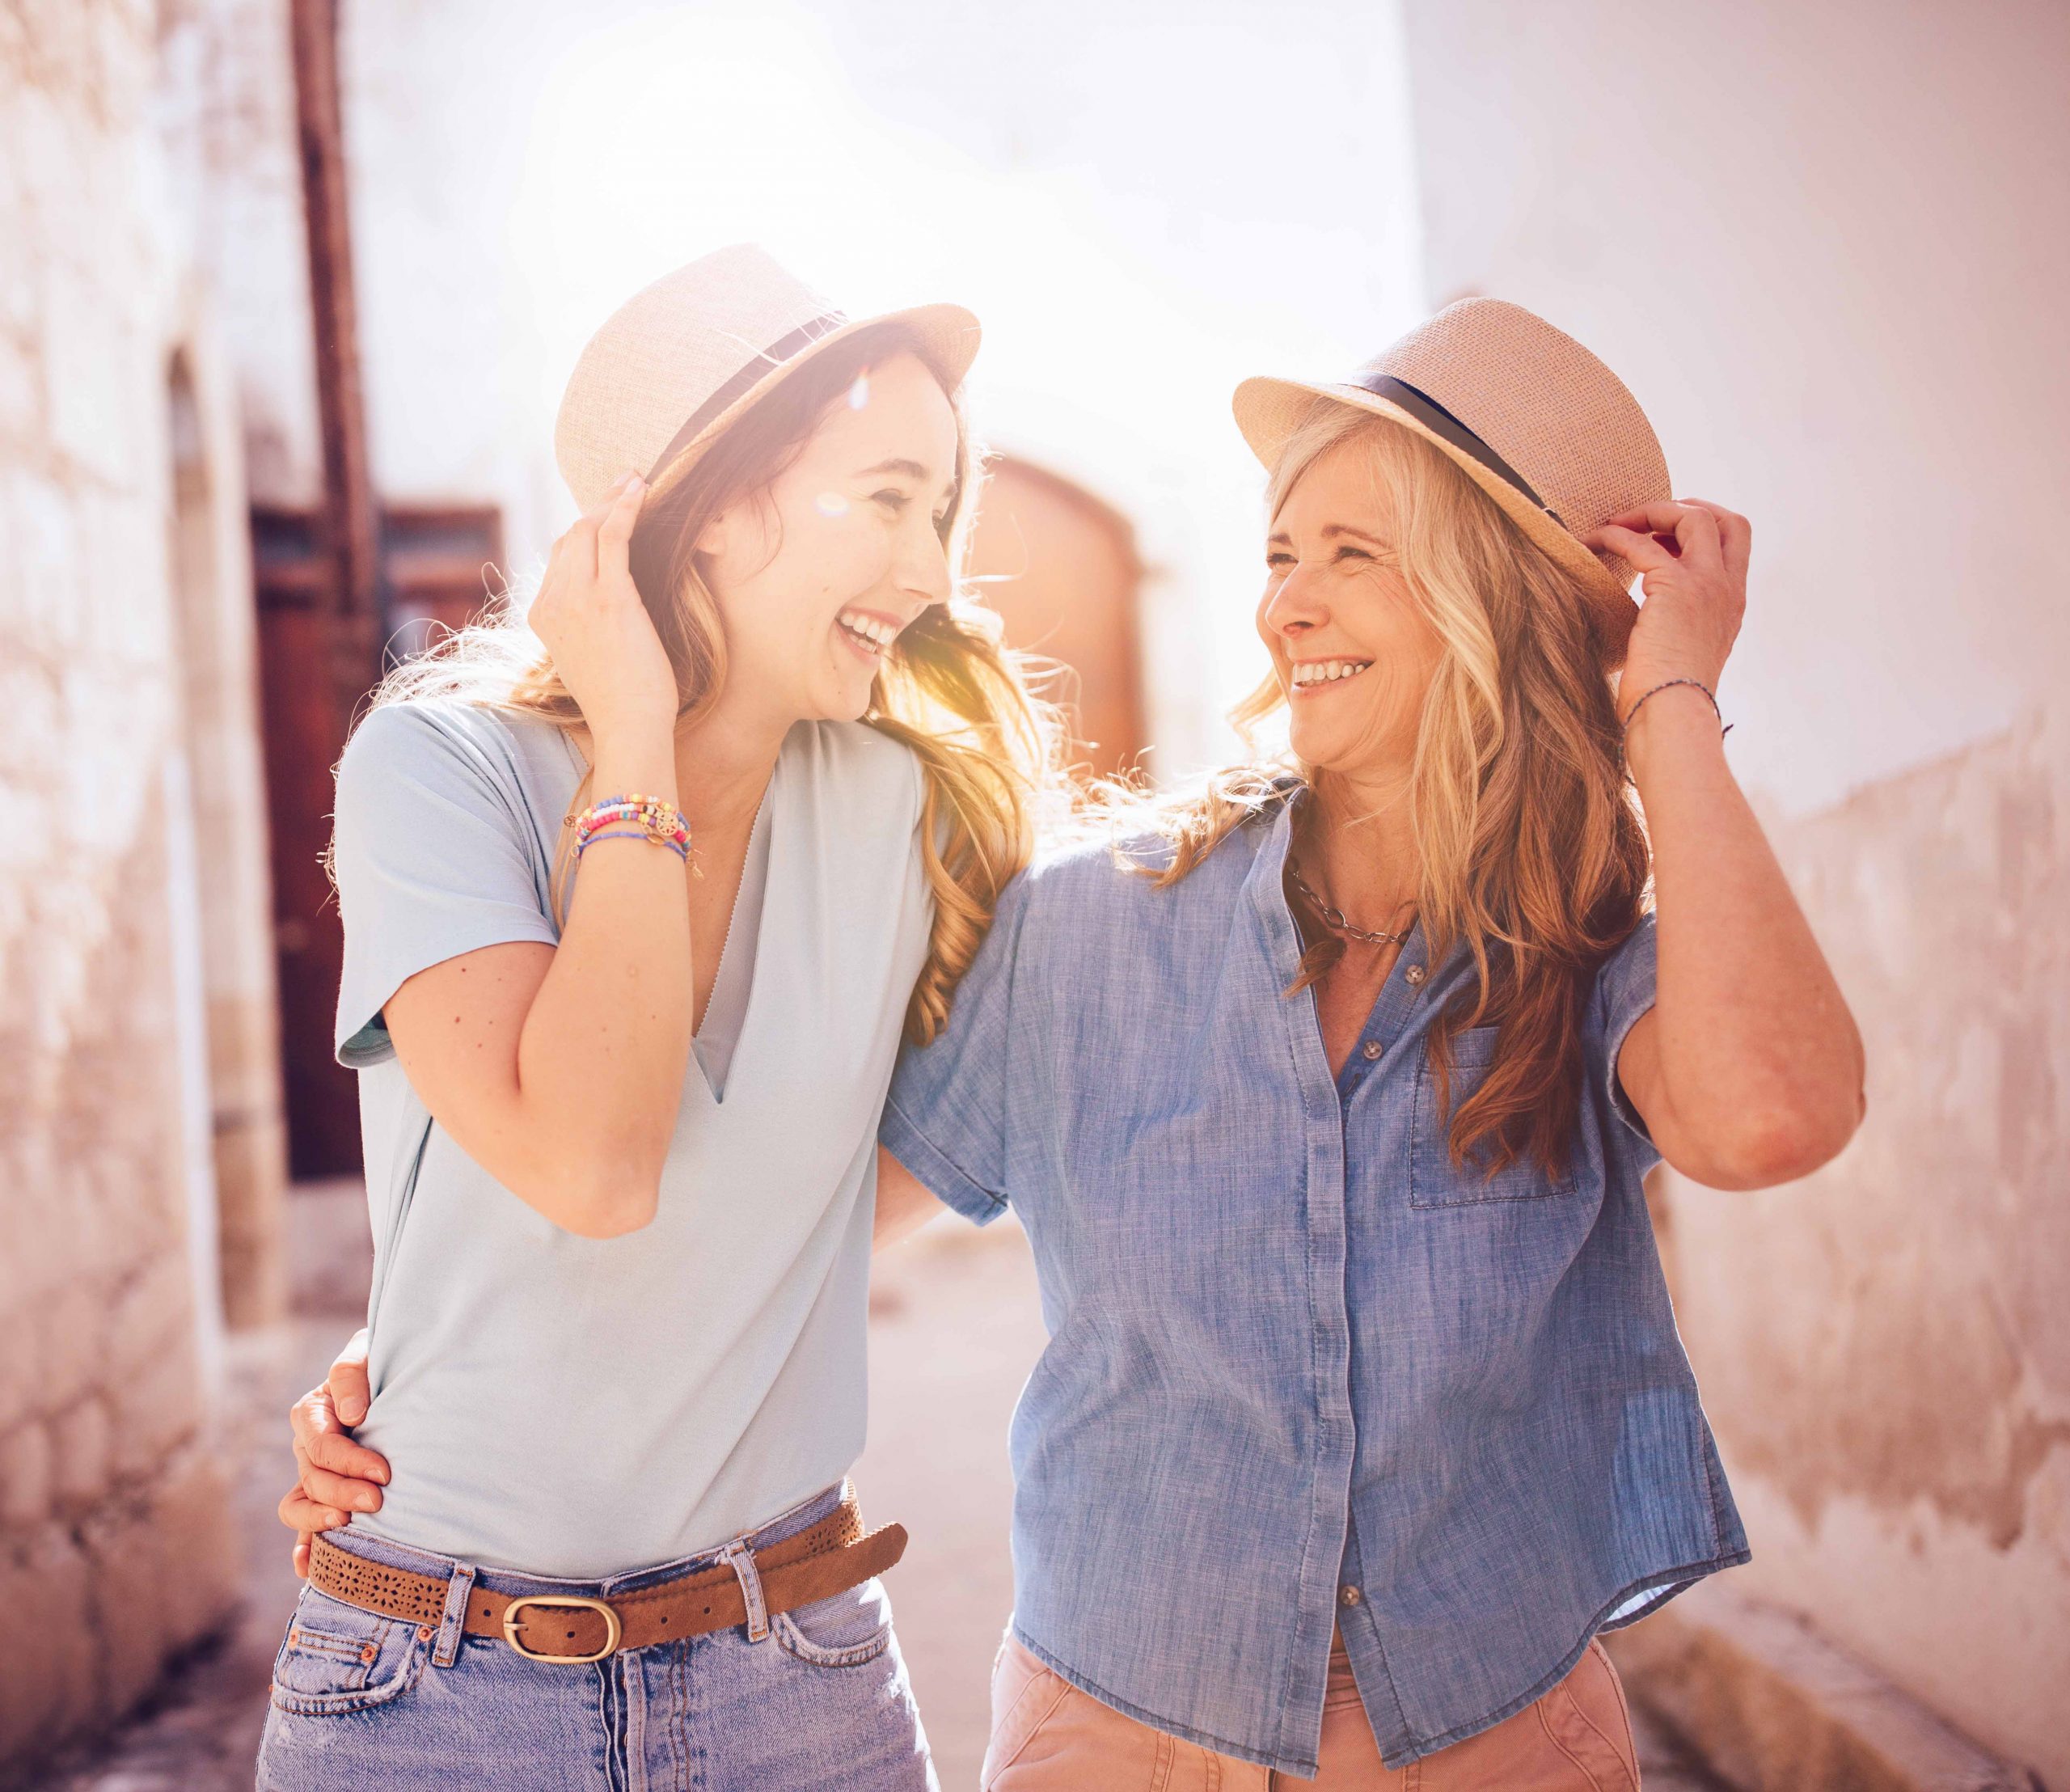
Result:
[[[766,490],[857,377],[898,354],[927,360],[919,337],[896,323],[859,329],[822,350],[770,387],[642,509],[631,573],[675,666],[679,726],[708,714],[727,681],[727,633],[698,567],[698,536],[722,509]],[[1058,788],[1062,741],[1056,710],[1029,689],[1023,658],[1002,641],[998,615],[963,590],[981,453],[960,393],[946,381],[942,389],[956,410],[956,490],[940,524],[942,546],[958,571],[956,592],[886,650],[863,714],[871,728],[913,749],[925,782],[921,853],[934,892],[934,931],[907,1006],[905,1031],[917,1045],[927,1045],[948,1022],[956,983],[992,927],[1000,892],[1029,861],[1037,803]],[[509,592],[480,621],[391,670],[368,708],[422,697],[484,704],[569,733],[582,726],[582,710]],[[584,774],[575,809],[588,784]],[[551,886],[557,923],[567,908],[571,848],[573,832],[563,824]]]

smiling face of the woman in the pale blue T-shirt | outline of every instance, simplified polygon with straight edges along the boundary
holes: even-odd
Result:
[[[863,372],[760,492],[698,534],[727,633],[727,691],[772,722],[853,722],[884,650],[948,600],[940,524],[956,414],[915,354]]]

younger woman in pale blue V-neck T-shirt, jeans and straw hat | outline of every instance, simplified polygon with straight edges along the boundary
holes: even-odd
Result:
[[[753,248],[648,288],[528,615],[346,749],[393,1486],[304,1558],[263,1788],[934,1786],[845,1475],[884,1086],[1045,759],[954,598],[975,344]]]

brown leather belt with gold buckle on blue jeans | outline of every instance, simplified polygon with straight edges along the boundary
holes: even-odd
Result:
[[[863,1529],[855,1498],[805,1531],[745,1552],[762,1581],[764,1616],[830,1600],[882,1575],[905,1554],[905,1525]],[[402,1618],[426,1635],[445,1620],[451,1581],[371,1562],[319,1535],[308,1550],[308,1583],[362,1612]],[[493,1593],[474,1587],[462,1629],[501,1637],[534,1662],[600,1662],[619,1649],[650,1649],[677,1637],[727,1631],[749,1618],[741,1577],[731,1562],[677,1575],[609,1600],[578,1593]]]

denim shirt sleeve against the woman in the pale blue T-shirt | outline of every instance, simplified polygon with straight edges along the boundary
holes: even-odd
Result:
[[[898,1053],[878,1140],[965,1219],[1006,1211],[1006,1053],[1029,906],[1029,877],[1006,886],[992,931],[956,985],[948,1026]]]

